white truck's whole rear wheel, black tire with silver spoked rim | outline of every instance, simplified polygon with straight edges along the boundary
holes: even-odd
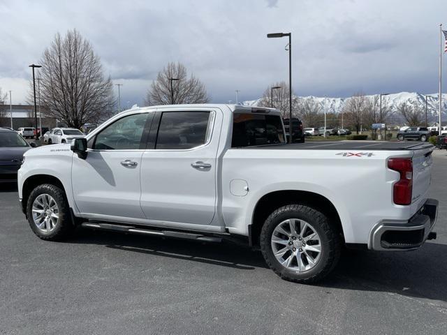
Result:
[[[290,204],[274,211],[261,230],[265,262],[278,276],[314,283],[327,276],[339,260],[341,242],[325,214]]]

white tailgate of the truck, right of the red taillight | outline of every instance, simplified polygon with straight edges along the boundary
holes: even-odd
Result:
[[[433,147],[415,150],[413,154],[413,195],[411,204],[425,201],[432,179]]]

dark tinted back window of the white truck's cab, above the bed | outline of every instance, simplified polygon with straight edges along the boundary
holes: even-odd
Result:
[[[284,143],[284,129],[279,115],[233,114],[232,148]]]

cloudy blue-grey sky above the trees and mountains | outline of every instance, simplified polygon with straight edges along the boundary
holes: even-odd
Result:
[[[168,61],[185,64],[213,102],[234,101],[236,89],[240,100],[258,98],[288,78],[286,38],[265,37],[277,31],[292,32],[299,96],[434,93],[446,13],[445,0],[0,0],[0,87],[24,103],[28,65],[54,34],[75,28],[124,84],[122,105],[142,105]]]

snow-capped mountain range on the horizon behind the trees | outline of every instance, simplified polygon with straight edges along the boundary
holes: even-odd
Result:
[[[379,94],[367,96],[368,98],[374,98],[374,96],[379,96]],[[304,100],[312,99],[318,101],[321,106],[324,106],[324,97],[319,96],[298,96]],[[342,111],[346,100],[349,98],[326,98],[326,108],[327,112],[339,113]],[[434,117],[437,117],[439,110],[439,98],[438,94],[420,94],[417,92],[400,92],[396,94],[389,94],[388,96],[382,96],[382,103],[387,103],[390,105],[393,112],[396,112],[397,106],[402,103],[411,103],[412,105],[420,105],[425,108],[425,99],[427,99],[427,114],[430,115],[430,119],[434,121]],[[244,101],[242,105],[245,106],[256,106],[261,102],[261,98],[252,101]],[[447,94],[442,94],[442,119],[447,119]]]

